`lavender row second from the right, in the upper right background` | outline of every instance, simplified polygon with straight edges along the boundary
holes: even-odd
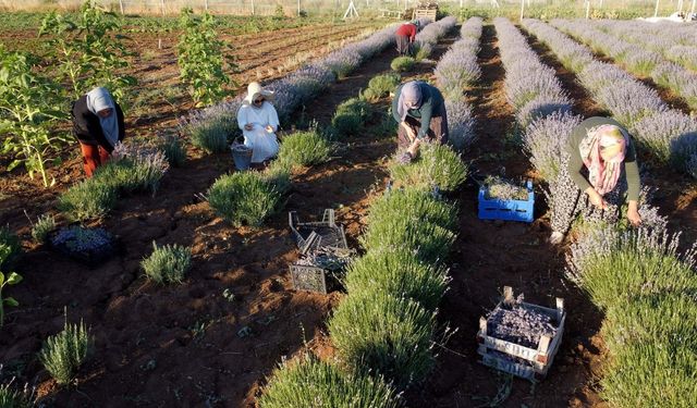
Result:
[[[697,73],[667,61],[658,52],[609,36],[588,21],[554,20],[551,24],[595,51],[612,58],[631,73],[651,77],[656,84],[681,96],[692,109],[697,108]]]

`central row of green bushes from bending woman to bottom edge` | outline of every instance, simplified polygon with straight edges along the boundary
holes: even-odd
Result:
[[[456,188],[466,170],[449,147],[430,145],[415,163],[394,161],[390,170],[404,189],[388,191],[371,205],[360,238],[367,254],[350,265],[344,280],[348,295],[328,323],[342,363],[306,356],[284,364],[267,386],[261,407],[310,400],[393,407],[401,404],[398,391],[420,383],[432,367],[436,308],[449,281],[441,262],[454,240],[456,207],[430,189],[433,183],[444,190]],[[327,372],[335,379],[333,386]],[[344,393],[337,394],[337,386]]]

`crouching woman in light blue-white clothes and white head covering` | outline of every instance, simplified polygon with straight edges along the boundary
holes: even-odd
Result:
[[[244,135],[244,145],[252,149],[252,163],[262,163],[279,152],[276,132],[279,115],[271,104],[273,92],[259,83],[247,86],[247,96],[237,111],[237,125]]]

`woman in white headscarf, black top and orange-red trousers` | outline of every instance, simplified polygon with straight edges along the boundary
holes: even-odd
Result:
[[[74,101],[71,114],[85,173],[91,177],[109,160],[117,143],[123,140],[123,111],[106,88],[98,87]]]

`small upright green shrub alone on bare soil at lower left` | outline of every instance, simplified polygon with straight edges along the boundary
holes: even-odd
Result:
[[[93,337],[85,324],[68,324],[62,332],[49,336],[39,351],[44,368],[61,385],[70,383],[91,351]]]

